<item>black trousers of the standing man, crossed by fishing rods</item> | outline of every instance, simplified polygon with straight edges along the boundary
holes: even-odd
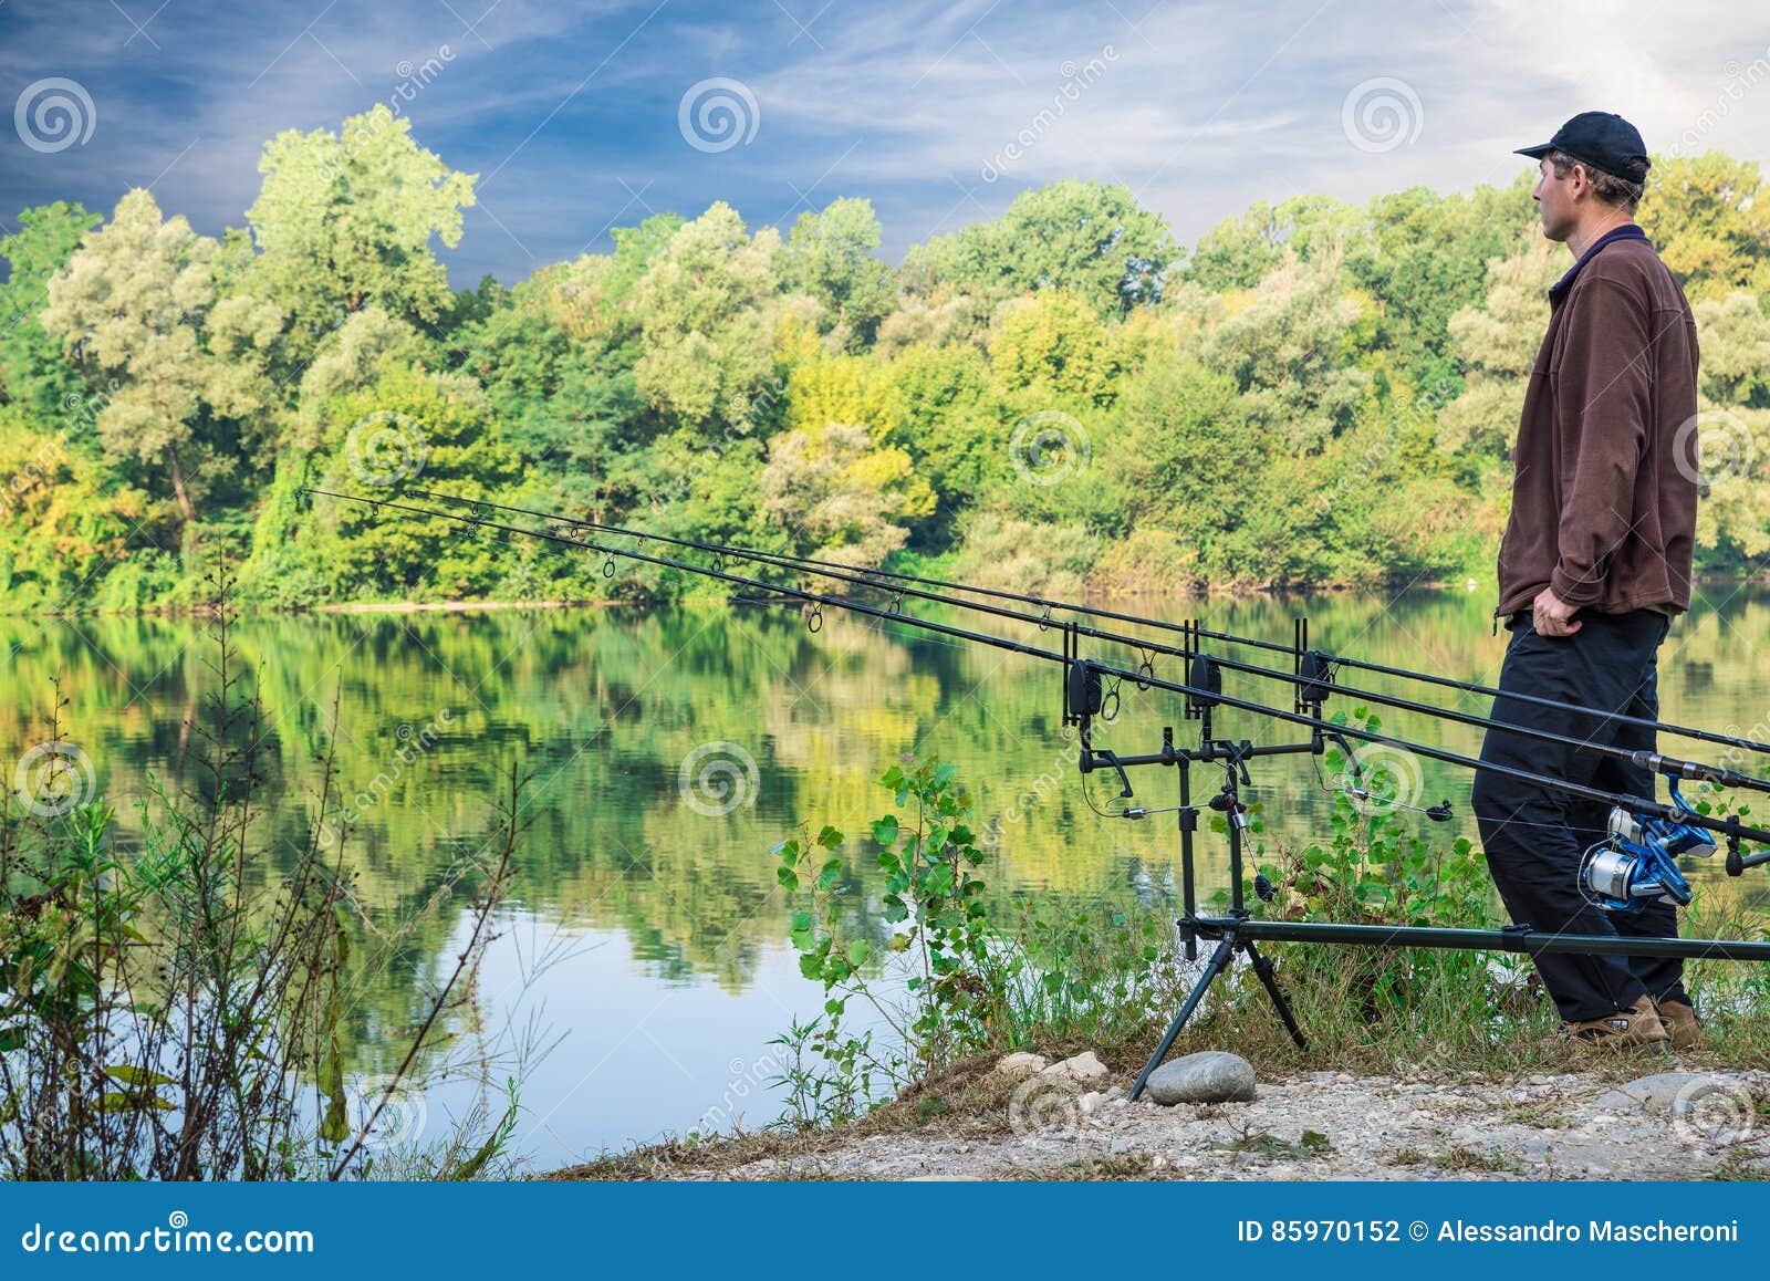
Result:
[[[1581,708],[1658,718],[1657,653],[1671,619],[1651,609],[1628,614],[1579,614],[1570,637],[1543,637],[1519,614],[1506,626],[1512,644],[1499,672],[1494,720],[1543,729],[1579,741],[1653,750],[1655,734],[1600,717],[1543,708],[1506,694],[1531,694]],[[1653,796],[1651,771],[1572,745],[1547,743],[1489,729],[1481,761],[1529,770],[1628,796]],[[1515,924],[1551,934],[1632,934],[1674,938],[1678,913],[1653,902],[1637,913],[1595,908],[1579,885],[1581,855],[1607,828],[1609,807],[1552,787],[1480,770],[1474,816],[1487,865]],[[1643,993],[1689,1001],[1683,963],[1676,957],[1540,955],[1536,971],[1568,1023],[1627,1010]]]

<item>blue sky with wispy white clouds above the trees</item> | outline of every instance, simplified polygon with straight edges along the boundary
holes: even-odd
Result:
[[[1060,177],[1127,184],[1189,242],[1262,196],[1504,182],[1528,165],[1513,147],[1586,108],[1628,115],[1655,150],[1770,159],[1770,19],[1749,12],[1731,0],[0,0],[0,106],[12,106],[0,226],[55,198],[108,212],[152,186],[163,209],[218,234],[244,221],[267,138],[396,103],[425,147],[480,175],[444,253],[457,285],[487,271],[513,281],[607,249],[609,226],[713,200],[784,228],[869,196],[896,262]],[[685,127],[703,81],[719,83],[687,99]],[[78,126],[51,149],[65,134],[30,108],[57,96]],[[720,133],[733,120],[740,133]]]

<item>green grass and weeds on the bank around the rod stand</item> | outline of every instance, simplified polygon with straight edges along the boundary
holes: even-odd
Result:
[[[1343,817],[1343,816],[1342,816]],[[1370,837],[1347,819],[1336,825],[1333,851],[1280,853],[1273,879],[1280,902],[1303,904],[1290,915],[1347,922],[1418,922],[1490,927],[1490,881],[1467,842],[1434,855],[1405,835],[1372,853]],[[1266,860],[1262,856],[1262,865]],[[1423,886],[1423,888],[1421,888]],[[1388,895],[1388,897],[1384,897]],[[1412,899],[1409,897],[1412,895]],[[1421,904],[1418,899],[1425,895]],[[1389,906],[1374,908],[1372,902]],[[922,1134],[929,1139],[989,1138],[1012,1131],[1009,1102],[1016,1081],[995,1072],[1007,1053],[1027,1049],[1058,1060],[1094,1051],[1124,1081],[1159,1040],[1184,1000],[1204,955],[1182,963],[1168,915],[1161,908],[1119,909],[1090,904],[1021,902],[1020,920],[998,920],[1014,955],[1028,968],[1014,982],[981,986],[1007,991],[1000,1009],[982,1021],[982,1042],[949,1069],[931,1072],[866,1116],[839,1127],[766,1129],[712,1141],[667,1139],[625,1154],[561,1170],[552,1178],[719,1177],[759,1161],[773,1161],[788,1177],[818,1170],[823,1154],[874,1134]],[[1736,906],[1699,902],[1687,913],[1685,934],[1759,938],[1765,924]],[[1556,1012],[1531,975],[1519,982],[1519,957],[1430,948],[1347,948],[1278,943],[1262,948],[1276,964],[1278,982],[1308,1046],[1296,1046],[1266,989],[1244,963],[1212,986],[1200,1014],[1182,1030],[1170,1058],[1200,1049],[1234,1049],[1262,1079],[1319,1070],[1393,1076],[1420,1083],[1515,1081],[1529,1076],[1581,1072],[1621,1083],[1650,1072],[1770,1069],[1770,975],[1763,966],[1690,963],[1687,982],[1706,1014],[1710,1044],[1701,1053],[1591,1051],[1554,1039]],[[1504,961],[1496,966],[1492,961]],[[1062,982],[1027,982],[1025,975],[1058,971]],[[1510,971],[1510,973],[1508,973]],[[1202,1113],[1204,1115],[1204,1113]],[[1531,1102],[1496,1109],[1496,1118],[1538,1129],[1559,1129],[1559,1104]],[[1232,1152],[1278,1161],[1303,1161],[1326,1150],[1322,1136],[1297,1141],[1243,1132]],[[1453,1147],[1437,1155],[1397,1148],[1391,1164],[1435,1164],[1446,1171],[1522,1173],[1504,1154]],[[1062,1178],[1158,1177],[1147,1155],[1089,1157],[1062,1168]],[[1749,1170],[1740,1162],[1740,1170]],[[1020,1175],[1014,1175],[1020,1177]],[[1034,1177],[1034,1175],[1028,1175]],[[1166,1175],[1174,1177],[1174,1175]],[[1758,1175],[1751,1175],[1758,1177]]]

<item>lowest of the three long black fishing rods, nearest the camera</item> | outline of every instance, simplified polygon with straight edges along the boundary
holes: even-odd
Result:
[[[1697,828],[1703,828],[1703,830],[1710,830],[1710,832],[1717,832],[1717,833],[1728,835],[1729,844],[1733,844],[1733,846],[1736,846],[1738,840],[1742,840],[1742,839],[1743,840],[1759,842],[1759,844],[1770,844],[1770,832],[1761,830],[1761,828],[1742,826],[1740,821],[1738,821],[1738,816],[1729,816],[1726,819],[1717,819],[1717,817],[1710,817],[1710,816],[1703,816],[1703,814],[1694,814],[1694,812],[1689,810],[1689,807],[1662,805],[1662,803],[1653,802],[1653,800],[1646,800],[1646,798],[1639,798],[1639,796],[1625,796],[1621,793],[1612,793],[1612,791],[1605,791],[1605,789],[1600,789],[1600,787],[1589,787],[1586,784],[1575,784],[1575,782],[1570,782],[1570,780],[1565,780],[1565,779],[1554,779],[1551,775],[1542,775],[1542,773],[1536,773],[1536,771],[1531,771],[1531,770],[1522,770],[1522,768],[1517,768],[1517,766],[1506,766],[1506,764],[1497,764],[1497,763],[1478,761],[1474,757],[1462,756],[1458,752],[1450,752],[1450,750],[1444,750],[1444,748],[1439,748],[1439,747],[1430,747],[1430,745],[1425,745],[1425,743],[1414,743],[1411,740],[1397,738],[1393,734],[1381,734],[1381,733],[1375,733],[1375,731],[1370,731],[1370,729],[1363,729],[1363,727],[1354,727],[1354,725],[1331,725],[1331,724],[1320,720],[1319,710],[1315,710],[1315,711],[1285,711],[1281,708],[1274,708],[1274,706],[1269,706],[1269,704],[1255,702],[1255,701],[1250,701],[1250,699],[1232,697],[1232,695],[1221,692],[1220,679],[1218,681],[1211,679],[1218,667],[1227,665],[1227,660],[1202,656],[1197,651],[1179,649],[1175,653],[1181,655],[1181,656],[1193,658],[1193,671],[1189,672],[1189,676],[1191,676],[1191,679],[1195,679],[1198,683],[1172,681],[1172,679],[1156,676],[1147,667],[1140,667],[1140,669],[1115,667],[1112,664],[1104,664],[1104,662],[1099,662],[1099,660],[1092,660],[1092,658],[1083,660],[1083,658],[1080,658],[1076,655],[1055,653],[1051,649],[1044,649],[1044,648],[1039,648],[1039,646],[1030,646],[1030,644],[1009,640],[1009,639],[995,635],[995,633],[974,632],[974,630],[968,630],[968,628],[959,628],[959,626],[952,626],[952,625],[947,625],[947,623],[936,623],[933,619],[926,619],[926,617],[917,617],[917,616],[912,616],[912,614],[904,614],[903,609],[901,609],[901,605],[897,605],[896,602],[890,607],[867,605],[866,602],[858,602],[858,600],[853,600],[853,598],[848,598],[848,596],[834,596],[834,594],[828,594],[828,593],[818,593],[818,591],[812,591],[807,586],[789,586],[789,584],[768,582],[768,580],[763,580],[763,579],[754,579],[754,577],[749,577],[749,575],[733,573],[731,570],[708,568],[708,566],[701,566],[701,564],[692,564],[689,561],[680,561],[680,559],[674,559],[674,557],[653,556],[650,552],[643,552],[643,550],[637,550],[637,548],[611,547],[611,545],[595,541],[591,538],[573,538],[570,533],[559,533],[558,529],[529,529],[529,527],[524,527],[524,525],[512,525],[512,524],[490,520],[490,518],[480,517],[480,515],[462,515],[462,513],[455,513],[455,511],[437,511],[434,508],[423,508],[423,506],[416,506],[416,504],[409,504],[409,502],[395,502],[391,499],[370,499],[370,497],[361,497],[361,495],[356,495],[356,494],[340,494],[336,490],[324,490],[324,488],[317,488],[317,487],[304,487],[304,492],[315,494],[315,495],[331,497],[331,499],[338,499],[338,501],[345,501],[345,502],[356,502],[356,504],[361,504],[361,506],[372,508],[372,510],[396,511],[396,513],[402,513],[402,515],[421,517],[421,518],[428,518],[428,520],[444,520],[444,522],[450,522],[451,525],[457,525],[457,527],[467,525],[467,527],[474,527],[474,529],[490,529],[490,531],[506,533],[506,534],[519,534],[519,536],[526,536],[526,538],[536,538],[536,540],[556,543],[556,545],[577,547],[577,548],[584,548],[584,550],[591,550],[591,552],[600,552],[602,556],[607,556],[607,557],[634,559],[634,561],[641,561],[641,563],[648,563],[648,564],[657,564],[660,568],[681,570],[681,571],[701,575],[701,577],[720,579],[724,582],[729,582],[729,584],[735,584],[735,586],[742,586],[742,587],[761,589],[761,591],[768,591],[768,593],[779,593],[782,596],[798,600],[802,603],[811,603],[818,610],[818,614],[816,614],[816,619],[818,619],[816,625],[807,623],[807,626],[811,626],[812,632],[816,632],[818,628],[821,628],[821,607],[823,605],[830,605],[834,609],[843,609],[843,610],[850,610],[850,612],[857,612],[857,614],[866,614],[866,616],[880,617],[880,619],[896,619],[899,623],[906,623],[906,625],[912,625],[912,626],[917,626],[917,628],[922,628],[922,630],[929,630],[929,632],[936,632],[936,633],[958,637],[958,639],[970,640],[970,642],[975,642],[975,644],[986,644],[986,646],[991,646],[991,648],[1007,649],[1011,653],[1020,653],[1020,655],[1025,655],[1025,656],[1030,656],[1030,658],[1043,658],[1046,662],[1057,662],[1057,664],[1062,664],[1066,669],[1080,669],[1080,671],[1083,671],[1083,679],[1097,679],[1097,678],[1108,678],[1108,676],[1110,678],[1117,678],[1120,683],[1126,681],[1126,679],[1129,679],[1129,681],[1135,681],[1140,688],[1145,688],[1145,690],[1147,688],[1161,688],[1161,690],[1168,690],[1168,692],[1174,692],[1174,694],[1186,695],[1188,699],[1193,699],[1193,701],[1209,699],[1212,706],[1221,704],[1221,706],[1234,708],[1234,710],[1239,710],[1239,711],[1250,711],[1253,715],[1269,717],[1273,720],[1280,720],[1280,722],[1285,722],[1285,724],[1304,725],[1304,727],[1308,727],[1312,731],[1320,731],[1328,738],[1345,734],[1345,736],[1358,738],[1358,740],[1366,741],[1366,743],[1395,747],[1398,750],[1411,752],[1414,756],[1421,756],[1421,757],[1434,759],[1434,761],[1443,761],[1446,764],[1455,764],[1455,766],[1462,766],[1462,768],[1467,768],[1467,770],[1487,770],[1490,773],[1497,773],[1497,775],[1503,775],[1503,777],[1519,779],[1522,782],[1529,782],[1529,784],[1535,784],[1535,786],[1540,786],[1540,787],[1549,787],[1552,791],[1559,791],[1559,793],[1568,794],[1568,796],[1579,796],[1582,800],[1589,800],[1589,802],[1597,802],[1597,803],[1602,803],[1602,805],[1609,805],[1612,809],[1616,809],[1616,807],[1630,809],[1630,810],[1634,810],[1634,812],[1637,812],[1637,814],[1641,814],[1644,817],[1662,819],[1662,821],[1667,821],[1667,823],[1689,823],[1690,826],[1697,826]],[[462,499],[462,501],[466,501],[466,499]],[[496,508],[497,504],[481,504],[481,506]],[[577,524],[577,529],[581,533],[584,529],[584,524],[586,522],[579,522]],[[719,548],[712,548],[712,550],[719,550]],[[844,579],[844,580],[853,580],[857,577],[851,566],[843,566],[839,570],[816,570],[814,573],[821,575],[821,577]],[[910,594],[908,589],[906,589],[906,594]],[[1028,617],[1025,614],[1016,614],[1012,610],[1005,610],[1005,609],[993,607],[993,605],[981,605],[977,602],[938,598],[938,596],[931,596],[929,593],[920,593],[920,591],[917,591],[913,594],[917,594],[917,596],[929,596],[931,600],[938,600],[940,603],[952,605],[952,607],[958,607],[958,609],[972,609],[972,610],[986,612],[986,614],[991,614],[991,616],[1009,617],[1009,619],[1021,621],[1021,623],[1032,623],[1032,625],[1037,625],[1041,628],[1058,626],[1058,628],[1064,630],[1066,639],[1067,637],[1080,639],[1080,637],[1101,635],[1101,639],[1115,639],[1115,640],[1124,642],[1120,637],[1113,637],[1110,633],[1097,633],[1094,628],[1083,628],[1078,623],[1055,623],[1055,621],[1050,621],[1050,619],[1035,619],[1035,617]],[[1182,626],[1189,626],[1189,625],[1182,625]],[[1205,630],[1204,628],[1197,628],[1195,635],[1202,637],[1202,635],[1205,635]],[[1126,642],[1126,644],[1135,644],[1135,642]],[[1074,671],[1071,672],[1071,679],[1076,679],[1074,678]],[[1308,681],[1304,681],[1304,685],[1313,685],[1313,687],[1317,687],[1317,690],[1324,688],[1324,681],[1320,679],[1319,674],[1313,676],[1313,678],[1310,678]],[[1326,695],[1322,694],[1322,697],[1326,697]],[[1101,702],[1104,704],[1104,694],[1101,695]],[[1513,727],[1513,725],[1506,725],[1506,729],[1520,729],[1522,731],[1522,727]],[[1680,763],[1680,764],[1696,766],[1697,763]],[[1715,770],[1715,771],[1719,771],[1717,766],[1701,766],[1701,768],[1703,770]],[[1745,862],[1745,865],[1752,865],[1752,860],[1756,860],[1756,858],[1759,858],[1759,856],[1758,855],[1749,856],[1747,862]],[[1770,853],[1763,855],[1761,858],[1766,860],[1766,862],[1770,862]]]

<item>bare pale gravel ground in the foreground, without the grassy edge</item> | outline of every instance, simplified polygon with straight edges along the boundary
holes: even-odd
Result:
[[[1418,1083],[1312,1072],[1253,1102],[1127,1102],[1050,1072],[1009,1134],[889,1134],[689,1178],[1712,1178],[1770,1177],[1770,1072]],[[1085,1092],[1087,1090],[1087,1092]]]

